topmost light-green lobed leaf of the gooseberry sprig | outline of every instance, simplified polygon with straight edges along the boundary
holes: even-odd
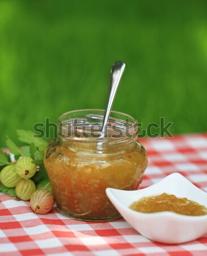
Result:
[[[44,141],[44,139],[33,137],[35,135],[33,131],[17,130],[16,133],[18,135],[19,141],[28,144],[31,144],[33,142],[36,147],[39,147],[41,144],[45,146],[48,144],[46,141]]]

